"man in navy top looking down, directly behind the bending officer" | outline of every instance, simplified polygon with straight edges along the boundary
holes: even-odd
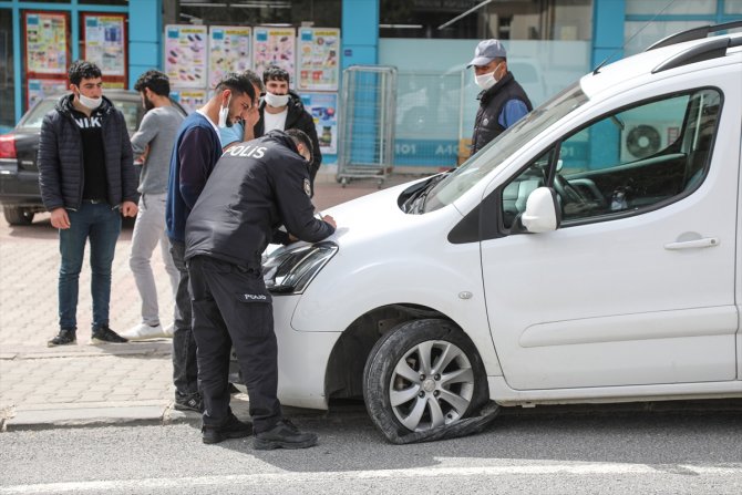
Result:
[[[255,104],[257,97],[250,81],[244,75],[227,74],[216,85],[214,96],[183,121],[175,137],[165,223],[173,262],[181,272],[173,333],[173,381],[175,409],[178,410],[203,410],[197,382],[196,342],[190,324],[188,269],[184,258],[186,220],[221,156],[219,127],[230,126],[238,118],[248,118]]]

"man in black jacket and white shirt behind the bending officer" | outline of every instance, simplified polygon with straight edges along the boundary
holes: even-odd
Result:
[[[262,73],[266,95],[260,102],[260,120],[255,124],[255,137],[260,137],[275,128],[279,131],[298,128],[307,134],[313,147],[309,168],[309,181],[313,189],[317,171],[322,164],[317,127],[315,118],[305,110],[301,97],[289,90],[289,73],[284,69],[276,65],[266,68]]]

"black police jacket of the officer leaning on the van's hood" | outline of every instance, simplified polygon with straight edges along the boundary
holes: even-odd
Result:
[[[278,227],[316,243],[334,231],[313,216],[307,162],[280,131],[229,148],[186,223],[185,258],[210,256],[254,266]]]

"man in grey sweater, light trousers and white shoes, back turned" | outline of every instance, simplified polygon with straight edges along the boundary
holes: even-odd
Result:
[[[142,322],[125,336],[128,340],[146,340],[173,336],[172,326],[163,328],[159,321],[157,288],[150,259],[159,243],[171,289],[175,295],[179,274],[169,255],[169,241],[165,235],[165,200],[171,154],[185,115],[172,104],[169,80],[164,73],[155,70],[145,72],[134,89],[140,92],[142,104],[147,110],[138,131],[132,136],[134,156],[143,156],[144,165],[138,188],[140,212],[134,224],[128,260],[142,298]]]

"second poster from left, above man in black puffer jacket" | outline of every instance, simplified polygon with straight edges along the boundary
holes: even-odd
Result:
[[[97,64],[105,76],[126,75],[124,16],[83,14],[83,59]]]

